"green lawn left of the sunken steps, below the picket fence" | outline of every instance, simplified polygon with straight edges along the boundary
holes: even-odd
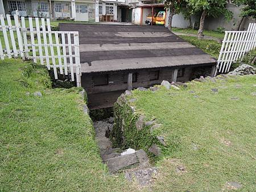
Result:
[[[0,61],[0,79],[0,191],[134,189],[102,164],[80,89],[51,89],[47,70],[22,60]]]

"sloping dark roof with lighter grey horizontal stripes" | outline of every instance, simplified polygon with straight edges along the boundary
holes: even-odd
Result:
[[[79,31],[82,73],[215,64],[163,26],[60,23]]]

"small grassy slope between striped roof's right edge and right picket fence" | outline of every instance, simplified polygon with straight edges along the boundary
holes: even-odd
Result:
[[[218,59],[218,55],[221,49],[221,43],[215,40],[197,39],[197,37],[180,35],[181,38],[188,41],[197,48],[202,49],[204,52],[208,53],[212,57]]]

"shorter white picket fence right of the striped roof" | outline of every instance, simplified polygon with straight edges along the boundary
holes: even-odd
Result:
[[[246,52],[255,48],[256,23],[250,23],[247,31],[225,31],[217,61],[218,72],[229,72],[233,62],[241,61]]]

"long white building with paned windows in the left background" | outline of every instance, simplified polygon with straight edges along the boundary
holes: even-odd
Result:
[[[0,0],[0,13],[13,15],[18,10],[20,16],[73,19],[87,22],[95,22],[97,19],[100,21],[117,21],[118,3],[125,3],[125,0],[102,0],[98,1],[98,4],[94,0]],[[97,5],[98,15],[95,11]]]

